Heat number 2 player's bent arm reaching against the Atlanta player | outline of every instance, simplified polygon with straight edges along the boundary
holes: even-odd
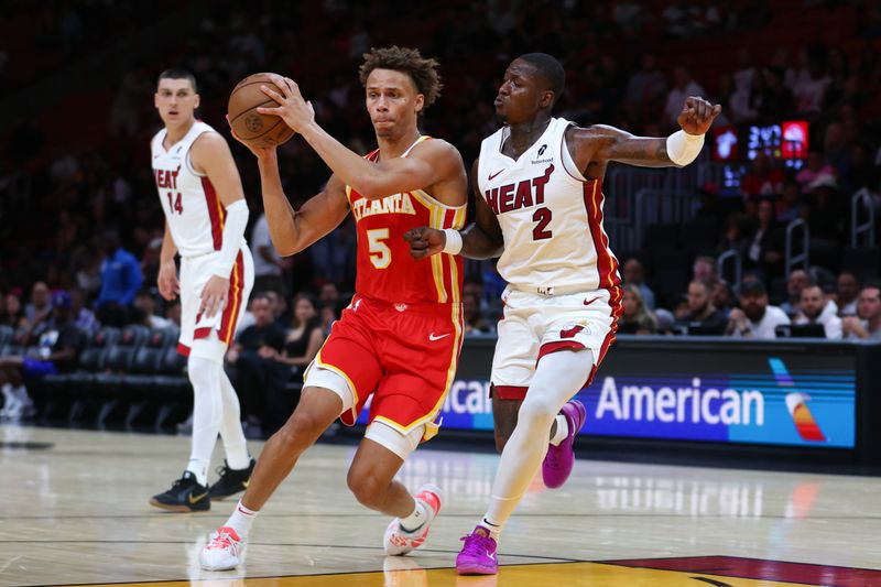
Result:
[[[478,160],[479,161],[479,160]],[[448,252],[461,254],[468,259],[492,259],[504,250],[504,238],[499,219],[487,205],[477,184],[478,162],[471,166],[471,181],[475,189],[475,221],[468,225],[458,237],[455,230],[437,230],[420,227],[409,230],[404,239],[410,242],[410,254],[414,259],[423,259]]]

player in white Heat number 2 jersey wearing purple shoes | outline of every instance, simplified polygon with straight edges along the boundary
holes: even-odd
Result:
[[[579,128],[552,116],[564,81],[550,55],[514,59],[494,102],[504,126],[483,140],[472,167],[476,222],[463,232],[417,228],[405,237],[415,258],[500,257],[509,283],[491,374],[503,449],[489,509],[456,559],[459,574],[497,573],[497,541],[542,459],[548,486],[572,470],[585,412],[568,400],[592,379],[622,312],[618,260],[602,228],[606,165],[687,165],[721,111],[688,98],[678,117],[683,130],[659,139]]]

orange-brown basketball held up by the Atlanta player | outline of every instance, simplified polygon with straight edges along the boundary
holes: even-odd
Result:
[[[229,126],[239,139],[253,146],[276,146],[291,139],[294,130],[280,117],[261,115],[259,107],[274,108],[278,102],[263,94],[261,85],[278,89],[272,83],[273,74],[254,74],[246,77],[232,88],[227,106]]]

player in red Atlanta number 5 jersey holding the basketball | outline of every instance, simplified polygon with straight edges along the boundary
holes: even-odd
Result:
[[[316,122],[293,80],[276,78],[278,102],[261,108],[303,135],[333,170],[325,189],[294,210],[282,192],[275,149],[257,155],[272,241],[284,256],[327,235],[351,211],[358,230],[358,274],[351,304],[309,366],[300,403],[260,455],[232,517],[203,550],[206,569],[240,563],[251,523],[297,458],[337,418],[352,424],[372,395],[370,423],[349,467],[348,485],[370,509],[394,517],[388,554],[422,545],[440,508],[439,490],[415,499],[394,480],[404,459],[437,432],[437,416],[461,347],[461,260],[440,254],[416,262],[403,235],[418,226],[459,229],[467,176],[458,151],[420,134],[418,116],[436,99],[437,62],[418,51],[372,50],[360,69],[379,149],[361,157]]]

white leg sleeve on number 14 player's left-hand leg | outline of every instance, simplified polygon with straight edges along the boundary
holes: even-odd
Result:
[[[196,340],[195,346],[200,343]],[[219,362],[197,357],[193,352],[187,359],[187,373],[193,384],[193,445],[186,470],[196,476],[199,485],[208,485],[208,467],[217,444],[217,434],[224,413],[220,391]]]

